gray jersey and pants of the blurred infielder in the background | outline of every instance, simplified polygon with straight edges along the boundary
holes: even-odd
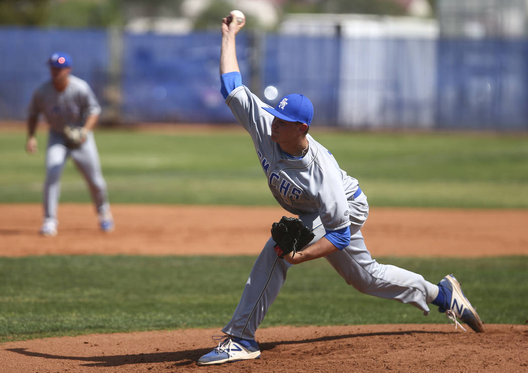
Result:
[[[43,205],[44,218],[55,222],[60,176],[69,156],[86,179],[98,214],[109,211],[106,182],[102,176],[93,132],[88,132],[86,141],[74,149],[65,146],[63,135],[64,126],[70,124],[82,127],[90,114],[101,112],[101,107],[87,82],[74,75],[69,75],[68,79],[68,85],[62,92],[55,90],[51,81],[42,84],[33,94],[29,107],[30,116],[43,114],[50,127]]]

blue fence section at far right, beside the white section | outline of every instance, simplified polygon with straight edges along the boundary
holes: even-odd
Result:
[[[438,128],[528,129],[528,42],[438,42]]]

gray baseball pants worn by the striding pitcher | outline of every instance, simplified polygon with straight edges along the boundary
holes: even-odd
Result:
[[[369,205],[366,196],[360,195],[349,201],[351,240],[343,250],[325,256],[347,284],[362,293],[376,297],[410,303],[424,314],[429,313],[428,303],[438,295],[438,286],[423,276],[393,265],[385,265],[372,259],[365,246],[361,227],[366,221]],[[303,224],[314,229],[314,240],[326,232],[317,213],[299,216]],[[275,241],[270,237],[253,265],[237,309],[231,321],[222,329],[233,337],[254,339],[255,332],[268,309],[277,298],[286,273],[292,264],[280,259],[275,250]]]

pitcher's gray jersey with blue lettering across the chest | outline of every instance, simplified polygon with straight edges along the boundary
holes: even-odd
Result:
[[[266,103],[243,85],[225,102],[251,135],[268,187],[286,211],[295,215],[318,212],[327,231],[350,225],[347,198],[357,189],[357,180],[340,169],[325,147],[308,134],[307,154],[300,159],[287,157],[271,140],[274,116],[262,109],[268,107]]]

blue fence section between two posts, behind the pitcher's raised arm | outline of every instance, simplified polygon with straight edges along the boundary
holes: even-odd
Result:
[[[237,37],[242,76],[248,76],[246,40]],[[125,34],[124,41],[121,116],[126,121],[234,121],[220,94],[219,33]]]

